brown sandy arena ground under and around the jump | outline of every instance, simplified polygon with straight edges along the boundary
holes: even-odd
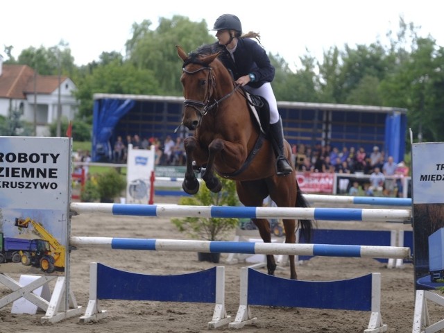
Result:
[[[155,203],[174,203],[176,198],[156,198]],[[408,229],[401,223],[333,223],[325,222],[320,228],[362,228],[368,230]],[[73,236],[142,237],[156,239],[185,239],[169,219],[135,216],[105,216],[83,214],[71,220]],[[232,234],[234,238],[234,232]],[[257,237],[259,237],[257,235]],[[231,240],[231,239],[228,239]],[[239,306],[240,268],[248,263],[226,264],[228,255],[221,256],[219,266],[225,266],[225,307],[236,316]],[[196,253],[162,251],[78,249],[71,254],[71,289],[78,305],[85,307],[89,293],[89,262],[101,262],[126,271],[148,274],[178,274],[200,271],[216,264],[199,262]],[[264,271],[264,269],[260,269]],[[265,271],[264,271],[265,272]],[[298,266],[300,280],[339,280],[356,278],[367,273],[382,273],[382,319],[387,332],[411,332],[413,325],[414,291],[413,266],[386,268],[373,259],[316,257]],[[276,275],[289,278],[287,267]],[[14,275],[12,275],[14,277]],[[18,276],[15,277],[18,280]],[[9,292],[0,286],[0,296]],[[99,322],[81,324],[78,317],[60,323],[40,323],[44,313],[36,315],[10,314],[10,305],[0,309],[0,332],[55,333],[55,332],[209,332],[207,322],[212,319],[214,305],[200,303],[103,300],[103,309],[109,316]],[[442,308],[441,308],[442,309]],[[432,322],[441,319],[442,310],[429,304]],[[257,316],[255,325],[241,332],[364,332],[370,312],[284,307],[251,307]],[[233,332],[228,326],[215,332]]]

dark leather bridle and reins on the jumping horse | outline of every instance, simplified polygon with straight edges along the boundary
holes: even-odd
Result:
[[[185,68],[187,65],[189,65],[189,63],[202,65],[202,67],[200,67],[194,71],[189,71]],[[218,106],[220,103],[225,101],[225,99],[228,99],[239,88],[239,85],[234,85],[234,88],[232,89],[231,92],[229,92],[228,94],[226,94],[225,96],[223,96],[219,100],[214,99],[213,94],[214,94],[214,88],[216,87],[216,79],[214,77],[214,71],[213,71],[212,67],[209,65],[206,65],[204,63],[200,63],[200,62],[196,62],[196,61],[185,62],[182,67],[182,72],[189,74],[189,75],[193,75],[193,74],[198,73],[199,71],[205,71],[205,70],[208,70],[208,78],[207,78],[207,82],[208,82],[207,87],[208,88],[207,88],[207,93],[205,94],[205,100],[204,101],[196,101],[194,99],[185,99],[185,101],[183,102],[185,107],[189,106],[191,108],[194,108],[194,110],[196,110],[196,112],[200,116],[199,117],[199,124],[200,124],[202,117],[204,117],[205,114],[208,113],[208,111],[216,108],[216,106]],[[210,103],[210,101],[212,99],[214,100],[214,102]]]

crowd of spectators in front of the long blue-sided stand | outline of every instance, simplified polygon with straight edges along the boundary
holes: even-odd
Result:
[[[151,149],[151,146],[155,146],[155,165],[185,165],[187,161],[182,137],[173,139],[167,135],[161,141],[157,137],[141,139],[136,134],[127,135],[125,139],[117,137],[112,162],[126,163],[128,144],[132,144],[135,149]],[[392,156],[386,156],[378,146],[368,152],[362,146],[357,149],[344,146],[340,150],[328,144],[316,144],[314,147],[293,144],[292,150],[296,171],[368,175],[362,183],[346,182],[345,191],[350,195],[359,194],[361,187],[367,196],[402,196],[403,178],[409,176],[409,168],[404,161],[395,162]]]

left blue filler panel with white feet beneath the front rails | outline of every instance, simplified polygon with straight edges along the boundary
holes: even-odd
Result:
[[[90,264],[89,302],[80,323],[107,316],[99,300],[154,300],[160,302],[214,303],[208,328],[232,321],[225,311],[225,268],[178,275],[148,275],[120,271],[99,263]]]

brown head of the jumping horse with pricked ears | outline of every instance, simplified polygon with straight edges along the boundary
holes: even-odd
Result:
[[[214,100],[216,82],[210,64],[219,56],[219,52],[191,53],[188,56],[180,46],[176,48],[179,58],[184,62],[182,76],[180,76],[185,97],[182,123],[189,130],[195,130],[200,118],[206,114],[210,103]]]

